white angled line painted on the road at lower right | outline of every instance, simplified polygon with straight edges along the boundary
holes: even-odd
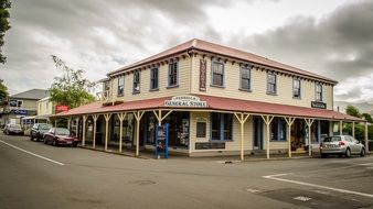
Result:
[[[302,186],[317,187],[317,188],[339,191],[339,193],[343,193],[343,194],[352,194],[352,195],[359,195],[359,196],[363,196],[363,197],[373,198],[372,194],[365,194],[365,193],[360,193],[360,191],[353,191],[353,190],[347,190],[347,189],[327,187],[327,186],[322,186],[322,185],[303,183],[303,182],[299,182],[299,180],[290,180],[290,179],[279,178],[278,177],[278,176],[286,176],[286,175],[289,175],[289,174],[276,174],[276,175],[262,176],[262,177],[263,178],[267,178],[267,179],[271,179],[271,180],[279,180],[279,182],[284,182],[284,183],[291,183],[291,184],[297,184],[297,185],[302,185]]]

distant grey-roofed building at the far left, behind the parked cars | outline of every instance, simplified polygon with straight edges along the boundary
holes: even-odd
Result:
[[[36,116],[38,101],[49,96],[45,89],[31,89],[9,97],[8,103],[0,109],[0,123],[21,123],[24,117]]]

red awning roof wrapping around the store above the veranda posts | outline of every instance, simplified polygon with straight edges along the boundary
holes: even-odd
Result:
[[[249,101],[242,99],[222,98],[195,95],[201,101],[207,102],[207,110],[220,111],[233,111],[233,112],[247,112],[252,114],[275,114],[286,117],[301,117],[301,118],[318,118],[327,120],[343,120],[343,121],[365,121],[360,118],[351,117],[333,110],[317,109],[317,108],[303,108],[297,106],[287,106],[280,103],[269,103],[260,101]],[[164,100],[169,100],[171,97],[145,99],[139,101],[128,101],[116,106],[103,106],[103,102],[94,102],[86,106],[81,106],[75,109],[71,109],[67,112],[56,114],[56,117],[79,116],[79,114],[93,114],[93,113],[109,113],[120,111],[136,111],[136,110],[149,110],[149,109],[198,109],[198,108],[184,108],[184,107],[164,107]]]

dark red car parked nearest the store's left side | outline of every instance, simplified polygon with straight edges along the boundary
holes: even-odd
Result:
[[[78,139],[65,128],[52,128],[44,134],[44,144],[77,146]]]

